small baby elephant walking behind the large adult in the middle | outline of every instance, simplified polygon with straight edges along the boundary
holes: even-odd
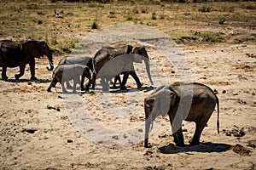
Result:
[[[62,92],[67,93],[64,83],[73,80],[73,92],[76,92],[76,85],[81,83],[80,77],[84,75],[90,82],[90,69],[84,65],[58,65],[53,71],[52,82],[47,89],[50,92],[50,88],[55,88],[57,82],[61,83]],[[88,91],[88,90],[87,90]]]

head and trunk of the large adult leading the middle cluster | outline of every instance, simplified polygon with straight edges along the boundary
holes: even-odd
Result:
[[[148,57],[146,48],[144,46],[134,47],[134,48],[132,48],[131,54],[135,54],[134,55],[135,62],[142,63],[142,60],[144,61],[145,65],[146,65],[146,70],[148,73],[148,79],[149,79],[151,85],[153,85],[154,82],[151,79],[149,57]]]

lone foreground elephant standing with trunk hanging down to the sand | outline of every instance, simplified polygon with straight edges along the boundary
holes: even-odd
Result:
[[[181,99],[181,86],[183,86],[183,99]],[[189,99],[192,99],[191,105],[186,103]],[[219,112],[218,97],[213,93],[211,88],[200,83],[175,83],[170,86],[161,86],[156,88],[153,94],[150,94],[144,99],[144,111],[146,117],[144,147],[148,147],[150,124],[153,123],[157,116],[165,116],[166,113],[169,116],[172,129],[175,128],[175,126],[177,127],[177,132],[173,132],[175,144],[178,146],[184,146],[182,133],[183,120],[195,122],[196,125],[195,134],[189,141],[190,145],[200,144],[202,130],[212,116],[212,112],[214,111],[216,104]],[[188,110],[188,116],[183,112],[179,112],[179,115],[177,115],[178,107],[180,107],[179,109],[183,109],[188,106],[191,106]],[[177,116],[180,121],[175,122],[176,124],[173,125],[175,116]],[[219,133],[218,119],[217,127]]]

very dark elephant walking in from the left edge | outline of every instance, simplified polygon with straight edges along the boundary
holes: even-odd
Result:
[[[52,52],[44,41],[27,40],[15,42],[11,40],[0,41],[0,66],[2,70],[2,80],[8,80],[6,76],[7,67],[20,67],[20,74],[15,74],[15,79],[19,80],[24,75],[26,64],[29,64],[31,80],[35,77],[35,58],[46,55],[49,59],[48,71],[54,69]]]

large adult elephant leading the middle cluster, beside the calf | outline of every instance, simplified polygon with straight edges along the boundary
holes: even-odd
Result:
[[[93,75],[92,75],[92,88],[95,88],[96,78],[101,77],[103,89],[108,87],[108,80],[112,77],[119,76],[120,73],[124,74],[123,81],[120,84],[120,89],[125,89],[125,83],[129,75],[137,82],[137,88],[142,87],[137,74],[134,70],[133,62],[145,62],[148,79],[153,84],[150,75],[149,57],[145,47],[133,47],[126,45],[120,48],[102,48],[92,58]],[[83,76],[84,77],[84,76]],[[84,82],[81,82],[81,87]],[[86,89],[90,87],[87,83]],[[82,90],[84,88],[82,87]]]

